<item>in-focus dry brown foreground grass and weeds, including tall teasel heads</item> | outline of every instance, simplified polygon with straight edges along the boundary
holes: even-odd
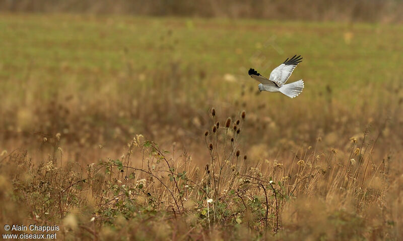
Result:
[[[401,238],[402,166],[391,154],[373,160],[379,136],[351,138],[344,150],[322,150],[318,138],[292,158],[256,161],[239,142],[248,115],[217,115],[201,168],[141,135],[85,169],[62,164],[59,135],[43,137],[53,152],[38,164],[23,150],[3,153],[2,221],[60,223],[67,239]]]

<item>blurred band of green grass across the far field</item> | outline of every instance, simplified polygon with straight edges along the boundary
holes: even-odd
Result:
[[[291,81],[303,78],[305,95],[317,91],[316,85],[344,93],[369,82],[396,81],[402,72],[401,26],[5,15],[0,29],[3,91],[19,93],[14,83],[30,78],[46,83],[40,86],[44,96],[54,82],[59,88],[74,82],[86,91],[93,82],[114,81],[127,73],[127,62],[134,73],[149,75],[176,61],[181,69],[204,71],[212,82],[228,85],[222,81],[225,73],[252,82],[245,71],[249,67],[268,75],[286,57],[301,54],[304,61]],[[344,37],[348,33],[350,44]]]

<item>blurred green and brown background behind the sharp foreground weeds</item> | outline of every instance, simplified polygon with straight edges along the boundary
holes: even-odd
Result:
[[[44,138],[60,134],[63,158],[91,163],[143,134],[203,163],[212,107],[222,123],[246,110],[255,161],[364,136],[382,159],[403,144],[401,1],[1,0],[0,10],[0,152],[47,155]],[[295,54],[289,81],[303,79],[302,94],[259,93],[247,70],[267,76]]]

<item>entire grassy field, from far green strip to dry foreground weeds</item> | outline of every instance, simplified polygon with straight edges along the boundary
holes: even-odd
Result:
[[[2,14],[1,223],[67,240],[399,240],[402,30]],[[247,70],[294,54],[302,94],[259,93]]]

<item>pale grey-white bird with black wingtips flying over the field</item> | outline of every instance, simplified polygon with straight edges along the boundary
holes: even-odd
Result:
[[[260,82],[258,85],[260,91],[281,92],[288,97],[294,98],[304,89],[304,81],[300,79],[290,84],[285,83],[301,61],[301,55],[298,57],[294,55],[291,59],[287,58],[286,61],[272,71],[268,79],[257,73],[254,69],[249,69],[248,74],[250,77]]]

